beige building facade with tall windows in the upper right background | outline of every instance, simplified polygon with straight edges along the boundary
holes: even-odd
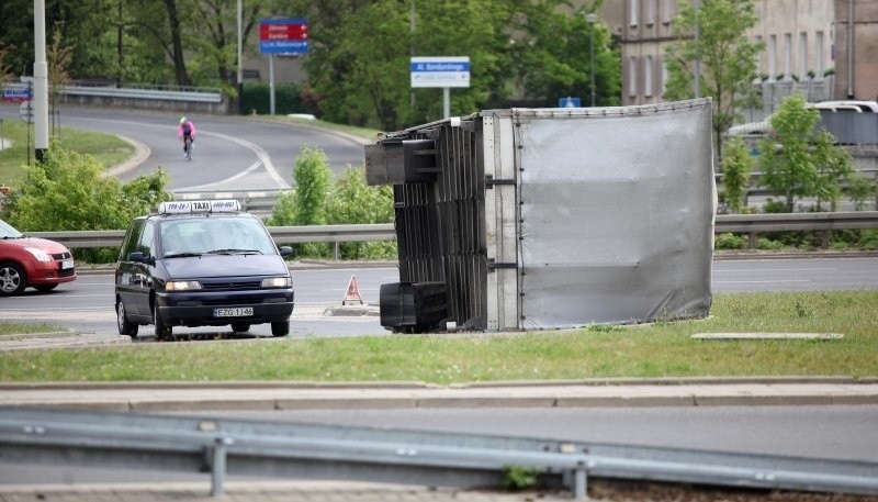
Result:
[[[678,2],[709,0],[608,0],[623,3],[622,103],[664,101],[664,55],[673,42]],[[800,91],[810,101],[878,99],[878,0],[754,0],[758,22],[747,33],[763,42],[754,86],[763,112]],[[849,29],[848,29],[849,27]]]

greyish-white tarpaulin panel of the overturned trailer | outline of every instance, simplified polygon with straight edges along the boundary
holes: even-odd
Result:
[[[707,316],[717,205],[710,100],[510,112],[518,327]]]

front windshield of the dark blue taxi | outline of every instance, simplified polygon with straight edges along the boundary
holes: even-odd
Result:
[[[277,254],[274,242],[251,217],[195,217],[161,224],[162,258],[205,254]]]

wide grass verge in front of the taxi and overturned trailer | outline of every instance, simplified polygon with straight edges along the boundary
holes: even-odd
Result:
[[[0,381],[423,381],[878,375],[878,290],[718,294],[708,319],[521,334],[392,335],[7,352]],[[841,333],[696,341],[696,333]]]

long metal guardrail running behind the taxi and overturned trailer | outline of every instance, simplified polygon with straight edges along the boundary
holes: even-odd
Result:
[[[833,230],[878,228],[878,211],[849,211],[834,213],[779,213],[779,214],[720,214],[716,216],[713,232],[748,235],[751,248],[762,232],[823,232],[824,248]],[[393,241],[393,223],[368,225],[269,226],[278,244],[338,243]],[[27,235],[57,241],[67,247],[120,247],[125,231],[69,231],[31,232]]]

